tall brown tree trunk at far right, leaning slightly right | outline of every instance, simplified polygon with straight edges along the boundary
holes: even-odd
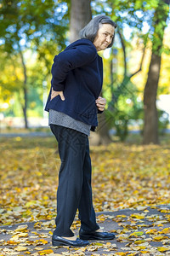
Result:
[[[168,0],[160,1],[153,18],[155,28],[152,42],[152,55],[148,79],[144,87],[144,144],[158,144],[158,114],[156,109],[156,94],[161,69],[161,48],[167,13],[165,11]],[[161,26],[161,27],[160,27]]]

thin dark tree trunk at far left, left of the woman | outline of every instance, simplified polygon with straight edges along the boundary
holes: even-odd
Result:
[[[27,74],[26,74],[26,63],[24,61],[24,56],[22,54],[22,51],[20,50],[20,58],[22,61],[22,67],[23,67],[23,71],[24,71],[24,84],[23,84],[23,93],[24,93],[24,104],[22,104],[22,111],[24,114],[24,119],[25,119],[25,128],[28,128],[28,119],[27,119]]]

